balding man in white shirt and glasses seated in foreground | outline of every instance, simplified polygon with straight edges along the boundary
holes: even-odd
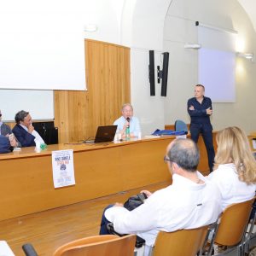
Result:
[[[196,144],[190,139],[175,139],[168,145],[164,160],[172,174],[172,185],[153,194],[143,190],[148,199],[131,212],[119,203],[108,207],[102,217],[101,235],[107,234],[106,224],[113,222],[118,233],[143,237],[147,250],[154,245],[160,230],[194,229],[217,220],[221,212],[220,192],[196,171]]]

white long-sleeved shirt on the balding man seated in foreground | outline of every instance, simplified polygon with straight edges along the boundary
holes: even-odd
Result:
[[[159,230],[193,229],[212,224],[221,212],[218,187],[197,172],[205,183],[199,184],[174,174],[172,185],[150,195],[143,205],[129,212],[112,207],[105,217],[121,234],[137,234],[154,245]]]

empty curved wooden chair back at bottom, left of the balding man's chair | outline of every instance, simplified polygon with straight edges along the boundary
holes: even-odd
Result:
[[[54,256],[131,256],[134,254],[135,235],[89,236],[68,242],[57,248]]]

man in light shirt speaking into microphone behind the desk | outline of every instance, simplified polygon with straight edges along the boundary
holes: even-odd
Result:
[[[125,103],[122,106],[122,116],[113,122],[113,125],[118,125],[117,133],[121,137],[125,137],[125,129],[127,125],[130,126],[130,137],[139,137],[141,133],[141,126],[137,117],[133,116],[133,108],[130,103]]]

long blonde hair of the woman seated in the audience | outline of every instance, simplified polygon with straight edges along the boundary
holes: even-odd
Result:
[[[234,163],[241,182],[256,183],[256,160],[245,132],[236,126],[228,127],[218,131],[216,138],[218,149],[214,169],[218,165]]]

